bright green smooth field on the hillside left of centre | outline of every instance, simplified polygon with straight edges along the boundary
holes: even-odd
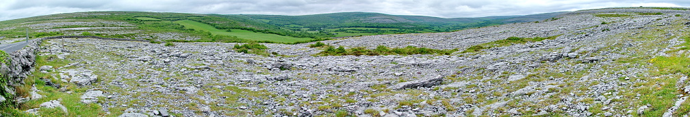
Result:
[[[231,31],[224,31],[221,29],[216,29],[212,25],[208,25],[205,23],[199,23],[197,21],[190,21],[190,20],[175,21],[175,23],[178,23],[180,25],[184,25],[184,27],[187,27],[190,29],[209,31],[211,34],[214,34],[214,35],[237,36],[238,38],[244,38],[247,40],[267,40],[267,41],[272,41],[272,42],[300,42],[300,41],[312,40],[312,38],[295,38],[295,37],[290,37],[290,36],[280,36],[277,34],[263,34],[263,33],[256,33],[253,31],[242,30],[242,29],[230,29]]]

